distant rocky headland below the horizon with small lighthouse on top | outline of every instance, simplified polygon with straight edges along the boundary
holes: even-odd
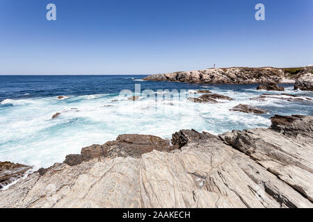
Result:
[[[302,90],[312,91],[313,67],[303,67],[299,69],[280,69],[273,67],[203,69],[198,71],[177,71],[169,74],[154,74],[145,77],[143,80],[210,84],[264,84],[296,82],[295,89],[299,88]]]

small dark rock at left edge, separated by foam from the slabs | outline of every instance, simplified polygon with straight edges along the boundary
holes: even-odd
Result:
[[[22,178],[31,167],[13,162],[0,162],[0,189]]]

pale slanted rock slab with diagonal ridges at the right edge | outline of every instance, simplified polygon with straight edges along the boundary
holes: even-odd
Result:
[[[281,133],[257,128],[233,130],[232,133],[220,135],[220,138],[246,153],[252,160],[312,201],[313,117],[298,117],[295,115],[273,118],[275,124],[285,126]],[[292,207],[290,203],[285,204]]]

